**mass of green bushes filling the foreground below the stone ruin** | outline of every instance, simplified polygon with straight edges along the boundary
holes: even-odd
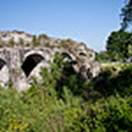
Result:
[[[111,70],[100,74],[107,82],[100,87],[96,79],[91,83],[82,81],[63,60],[56,54],[51,69],[42,70],[43,81],[38,83],[34,79],[27,92],[0,89],[0,131],[131,131],[132,68],[124,69],[115,78]],[[122,79],[123,87],[111,85],[113,79],[118,83]]]

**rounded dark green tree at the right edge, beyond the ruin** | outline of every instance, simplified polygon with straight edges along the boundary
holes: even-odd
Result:
[[[112,32],[108,37],[106,49],[113,60],[126,61],[132,56],[132,33]]]

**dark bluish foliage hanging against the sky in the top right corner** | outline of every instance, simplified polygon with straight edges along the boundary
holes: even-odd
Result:
[[[121,30],[124,31],[132,23],[132,0],[128,0],[127,4],[122,8],[121,19]]]

